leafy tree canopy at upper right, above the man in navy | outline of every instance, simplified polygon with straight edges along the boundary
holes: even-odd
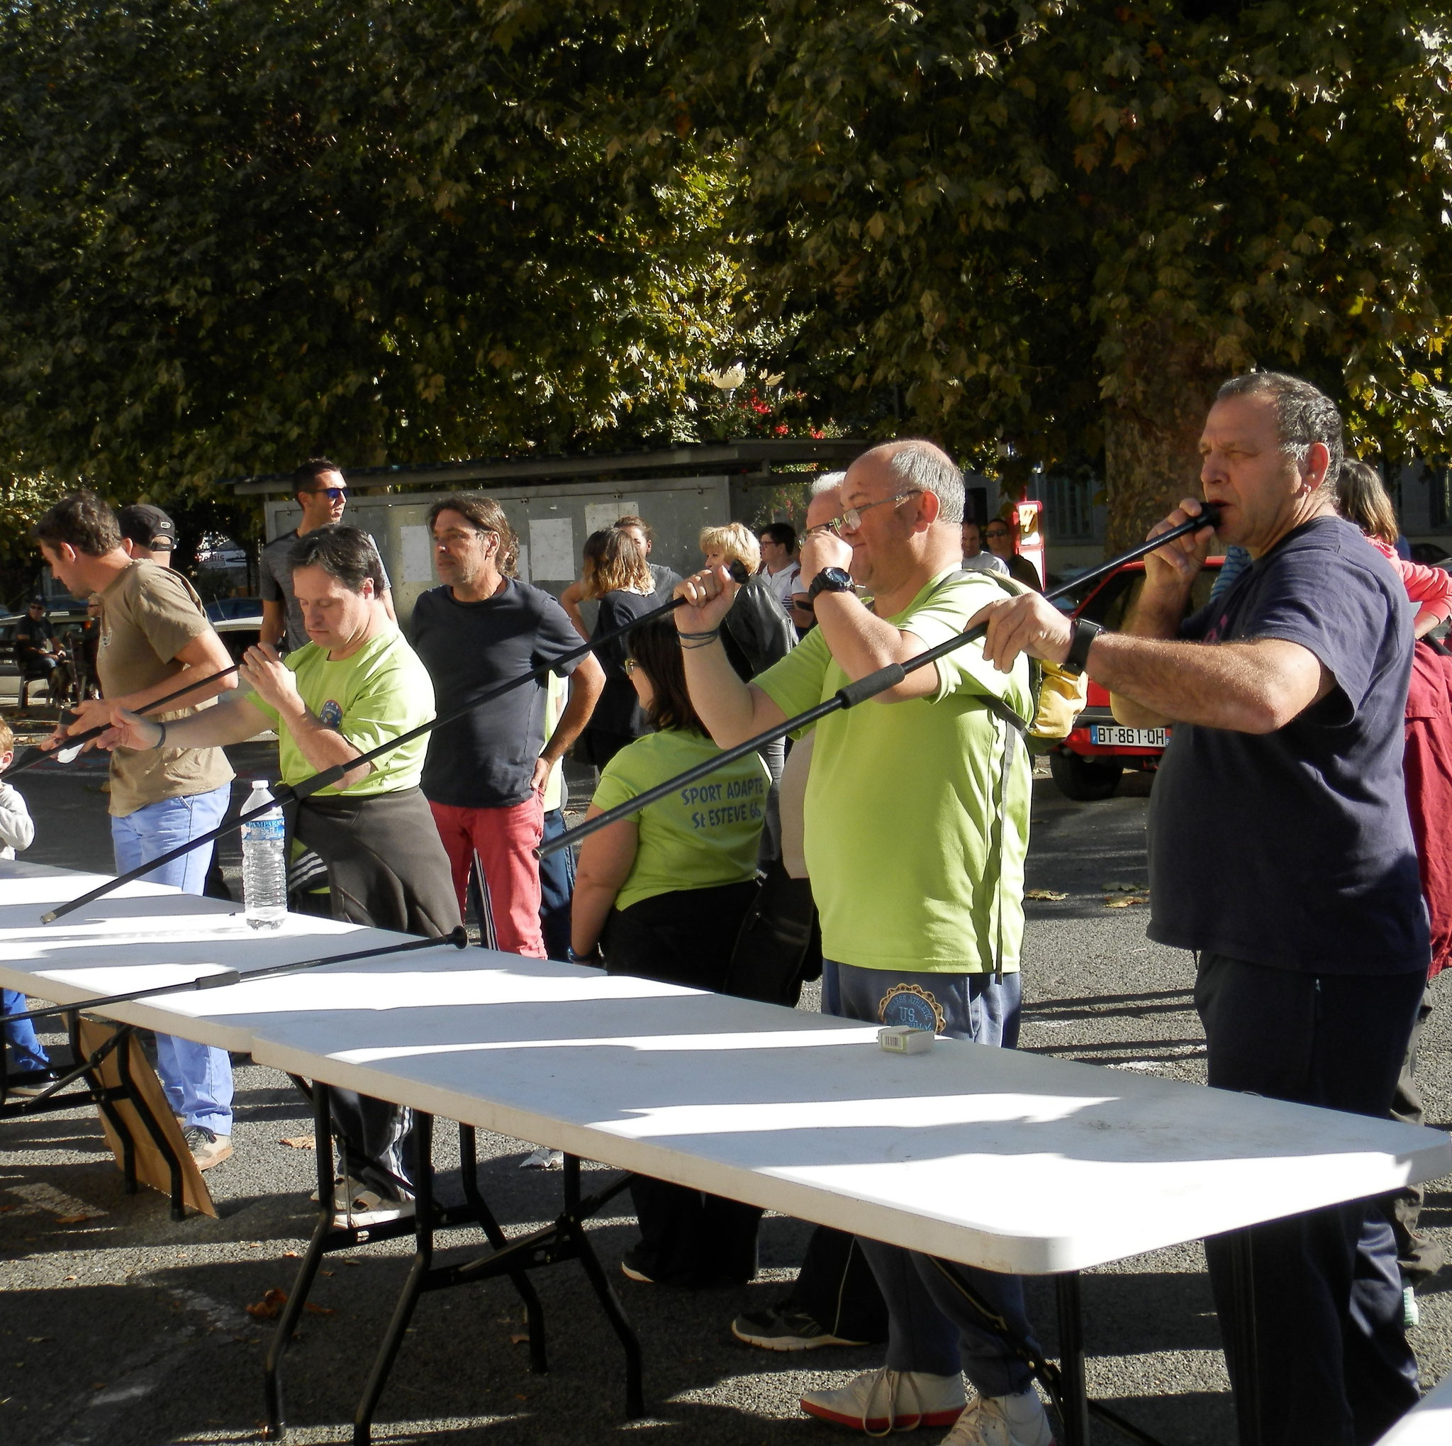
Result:
[[[1249,366],[1446,450],[1449,33],[1397,0],[767,0],[662,51],[803,356],[960,452],[1106,449],[1115,542]]]

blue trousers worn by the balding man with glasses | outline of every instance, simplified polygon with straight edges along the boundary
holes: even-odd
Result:
[[[1018,974],[897,973],[822,961],[822,1012],[842,1019],[913,1025],[955,1039],[1013,1048],[1021,1000]],[[935,1376],[961,1371],[980,1395],[1012,1395],[1029,1388],[1028,1366],[979,1324],[953,1283],[954,1278],[966,1280],[1037,1352],[1016,1275],[951,1263],[944,1267],[932,1256],[878,1240],[861,1244],[887,1301],[889,1369]]]

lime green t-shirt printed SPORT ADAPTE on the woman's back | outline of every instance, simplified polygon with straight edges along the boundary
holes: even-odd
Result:
[[[709,738],[685,729],[646,733],[605,764],[594,801],[613,809],[719,752]],[[767,765],[748,753],[633,814],[640,842],[616,907],[752,878],[770,785]]]

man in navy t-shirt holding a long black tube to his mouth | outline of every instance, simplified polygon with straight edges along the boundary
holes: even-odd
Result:
[[[1430,954],[1401,777],[1411,607],[1336,515],[1342,420],[1314,386],[1227,382],[1201,457],[1215,531],[1252,559],[1223,595],[1185,620],[1207,526],[1146,557],[1122,633],[1024,597],[984,610],[984,650],[1088,669],[1121,723],[1175,724],[1149,934],[1199,955],[1210,1083],[1387,1116]],[[1385,1220],[1365,1201],[1313,1211],[1257,1227],[1252,1250],[1263,1446],[1376,1440],[1417,1400]],[[1243,1386],[1224,1240],[1207,1256]]]

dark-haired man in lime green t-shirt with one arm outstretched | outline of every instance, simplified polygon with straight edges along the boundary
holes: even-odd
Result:
[[[293,552],[293,592],[308,645],[283,662],[267,643],[250,648],[250,691],[192,717],[158,723],[112,708],[103,748],[208,748],[276,727],[283,783],[348,764],[434,716],[428,672],[383,607],[378,550],[356,527],[319,527]],[[418,788],[428,739],[383,753],[305,798],[293,832],[328,865],[335,918],[440,938],[459,925],[449,857]],[[333,1092],[343,1135],[340,1222],[382,1224],[412,1212],[407,1109],[350,1090]]]

